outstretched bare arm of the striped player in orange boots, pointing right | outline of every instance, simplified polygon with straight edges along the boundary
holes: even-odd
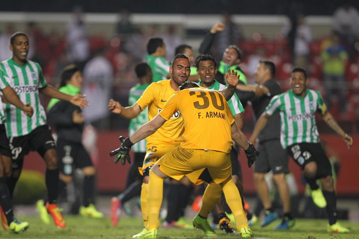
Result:
[[[62,101],[68,101],[71,104],[80,107],[81,109],[83,109],[85,106],[88,106],[88,100],[84,99],[85,95],[68,95],[65,93],[60,92],[59,90],[57,90],[55,87],[51,86],[51,85],[46,85],[45,87],[39,89],[39,91],[44,94],[45,96],[51,97],[51,98],[56,98]]]

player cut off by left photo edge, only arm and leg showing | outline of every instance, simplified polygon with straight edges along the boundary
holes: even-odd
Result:
[[[3,72],[0,69],[0,89],[4,95],[3,101],[13,104],[18,109],[23,111],[24,117],[31,117],[33,114],[33,109],[30,107],[30,103],[24,105],[13,89],[8,85],[8,81],[5,80]],[[24,232],[29,224],[27,222],[18,221],[12,210],[11,196],[6,184],[6,173],[3,163],[3,159],[10,160],[11,150],[9,147],[8,138],[6,136],[6,130],[4,122],[4,113],[2,110],[2,103],[0,103],[0,213],[1,213],[1,225],[4,230],[9,229],[11,232],[20,233]]]

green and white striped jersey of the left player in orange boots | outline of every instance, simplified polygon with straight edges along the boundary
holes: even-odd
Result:
[[[20,100],[24,104],[30,102],[34,111],[30,118],[15,106],[4,104],[7,136],[26,135],[36,127],[46,124],[46,113],[40,104],[38,89],[45,87],[47,83],[40,65],[28,60],[24,66],[20,66],[8,59],[0,63],[0,69]]]

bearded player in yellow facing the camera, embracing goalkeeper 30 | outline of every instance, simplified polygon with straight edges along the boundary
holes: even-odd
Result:
[[[115,114],[120,114],[126,119],[133,119],[148,107],[149,120],[153,119],[162,111],[167,100],[179,90],[179,86],[188,79],[190,73],[188,58],[184,55],[177,55],[172,61],[172,66],[170,66],[169,70],[171,79],[152,83],[147,87],[136,104],[130,107],[123,107],[119,102],[115,102],[111,99],[109,102],[109,110]],[[235,86],[238,83],[238,78],[234,75],[234,72],[227,74],[227,82],[229,85],[222,91],[222,94],[226,99],[229,99],[233,95]],[[144,220],[144,229],[148,221],[147,191],[149,170],[160,157],[179,145],[183,140],[182,132],[183,119],[179,112],[176,112],[163,127],[146,138],[147,154],[142,167],[144,179],[141,190],[141,211]],[[123,164],[125,164],[125,161],[123,161]]]

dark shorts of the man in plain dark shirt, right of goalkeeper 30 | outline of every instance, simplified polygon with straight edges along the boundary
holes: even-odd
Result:
[[[289,173],[288,154],[279,139],[260,142],[257,150],[260,154],[254,163],[255,173],[268,173],[270,170],[273,174]]]

